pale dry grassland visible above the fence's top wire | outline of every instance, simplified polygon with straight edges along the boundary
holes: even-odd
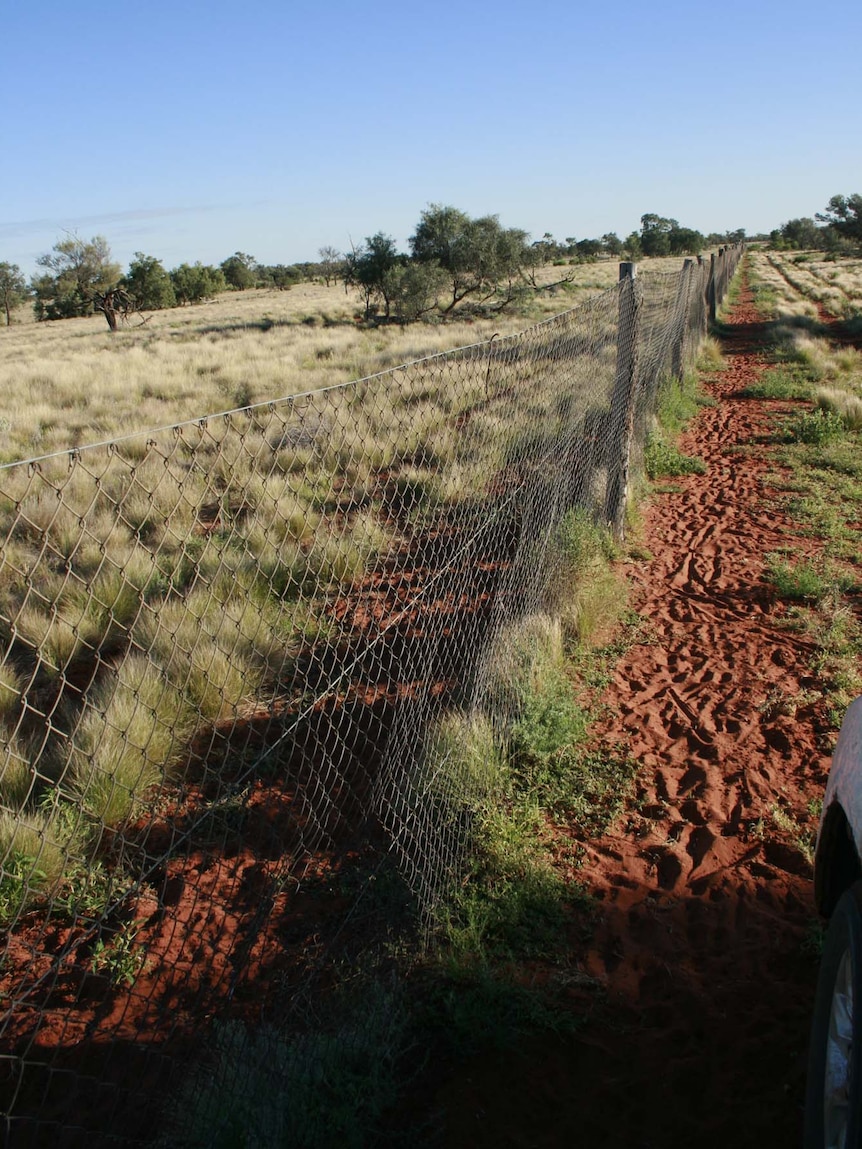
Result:
[[[680,261],[645,261],[678,271]],[[557,280],[571,282],[553,286]],[[0,462],[13,462],[360,379],[524,330],[614,286],[607,261],[542,269],[516,310],[369,327],[340,285],[247,291],[151,315],[111,334],[102,316],[0,330]],[[21,313],[16,321],[29,319]]]

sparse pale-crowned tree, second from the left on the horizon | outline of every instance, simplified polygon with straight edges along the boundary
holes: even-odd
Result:
[[[32,280],[37,319],[70,319],[91,315],[97,293],[116,287],[120,264],[114,263],[108,241],[93,236],[85,242],[69,236],[36,261],[44,275]]]

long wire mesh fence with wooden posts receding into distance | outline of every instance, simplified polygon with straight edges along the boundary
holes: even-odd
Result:
[[[572,508],[619,527],[660,381],[739,254],[0,469],[10,1143],[207,1143],[170,1111],[234,1096],[252,1065],[283,1092],[291,1066],[323,1072],[290,1018],[369,917],[445,897],[482,785],[448,716],[505,727],[500,666],[559,580],[555,531]],[[311,1143],[291,1112],[255,1143]]]

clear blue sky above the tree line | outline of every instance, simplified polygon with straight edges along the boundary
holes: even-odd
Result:
[[[0,0],[0,261],[317,259],[424,208],[769,231],[862,192],[862,3]]]

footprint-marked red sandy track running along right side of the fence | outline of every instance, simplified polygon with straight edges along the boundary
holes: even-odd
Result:
[[[803,693],[813,647],[782,626],[763,570],[769,552],[816,543],[770,488],[764,438],[790,404],[738,396],[765,367],[747,290],[730,324],[717,404],[682,442],[707,472],[654,498],[654,557],[628,570],[652,641],[623,657],[602,734],[640,762],[640,795],[572,871],[600,903],[572,977],[587,1021],[577,1039],[460,1066],[436,1097],[447,1146],[800,1143],[818,919],[810,866],[774,811],[816,830],[831,734]]]

